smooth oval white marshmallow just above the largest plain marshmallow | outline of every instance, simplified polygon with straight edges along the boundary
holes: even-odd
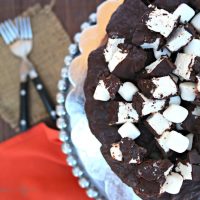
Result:
[[[163,112],[163,116],[173,123],[182,123],[188,116],[188,110],[182,106],[171,104]]]

